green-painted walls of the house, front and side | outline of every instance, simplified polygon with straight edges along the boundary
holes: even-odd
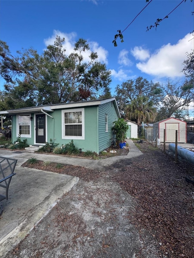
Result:
[[[47,141],[52,139],[53,142],[59,144],[67,144],[71,140],[62,139],[62,110],[55,109],[54,112],[48,112],[52,117],[47,116]],[[76,108],[75,108],[76,110]],[[105,132],[105,114],[108,115],[108,132]],[[35,134],[35,114],[31,121],[31,138],[27,138],[28,144],[34,144]],[[94,151],[99,153],[110,146],[111,139],[115,138],[112,133],[112,122],[118,119],[113,102],[108,102],[99,106],[84,107],[84,125],[85,125],[85,139],[73,140],[76,147],[81,148],[82,151]],[[12,142],[16,141],[16,115],[12,117]],[[24,140],[25,138],[21,138]]]

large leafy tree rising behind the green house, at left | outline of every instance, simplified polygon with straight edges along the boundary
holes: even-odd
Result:
[[[48,45],[42,55],[32,48],[17,51],[14,57],[8,45],[0,41],[0,75],[5,79],[5,96],[10,93],[17,99],[24,90],[25,103],[58,104],[81,101],[109,95],[111,72],[97,61],[96,52],[91,52],[89,61],[83,53],[89,51],[87,41],[80,38],[74,51],[66,55],[65,38],[56,36],[53,45]],[[29,104],[29,105],[31,105]]]

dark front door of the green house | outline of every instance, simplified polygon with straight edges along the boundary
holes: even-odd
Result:
[[[45,130],[45,115],[36,115],[36,143],[45,143],[46,130]]]

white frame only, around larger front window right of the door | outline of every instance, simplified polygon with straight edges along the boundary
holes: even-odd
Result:
[[[65,136],[65,121],[64,121],[64,114],[66,112],[77,112],[82,111],[82,136]],[[84,119],[84,108],[73,108],[73,109],[65,109],[62,110],[62,139],[69,139],[69,140],[85,140],[85,119]]]

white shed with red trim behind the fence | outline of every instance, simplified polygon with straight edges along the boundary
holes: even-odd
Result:
[[[166,142],[175,142],[176,130],[178,131],[178,142],[187,142],[187,123],[185,121],[170,117],[153,124],[154,141],[156,141],[157,137],[160,139],[160,142],[164,142],[164,129],[166,129]]]

